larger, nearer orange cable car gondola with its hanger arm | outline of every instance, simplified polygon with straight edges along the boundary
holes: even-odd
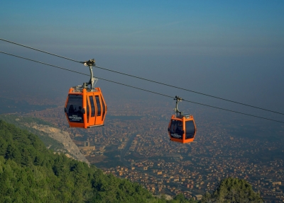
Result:
[[[65,115],[70,127],[103,126],[107,105],[101,89],[94,88],[94,81],[97,82],[92,72],[92,66],[95,66],[94,59],[84,62],[84,66],[89,66],[91,79],[88,83],[83,83],[83,86],[70,88],[64,108]]]

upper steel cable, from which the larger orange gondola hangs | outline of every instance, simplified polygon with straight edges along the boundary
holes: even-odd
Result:
[[[33,47],[28,47],[28,46],[26,46],[26,45],[21,45],[21,44],[18,44],[18,43],[16,43],[16,42],[11,42],[11,41],[9,41],[9,40],[4,40],[4,39],[1,39],[1,38],[0,38],[0,40],[5,41],[5,42],[12,43],[12,44],[14,44],[14,45],[19,45],[19,46],[26,47],[26,48],[29,48],[29,49],[32,49],[32,50],[36,50],[36,51],[38,51],[38,52],[43,52],[43,53],[45,53],[45,54],[51,54],[51,55],[53,55],[53,56],[55,56],[55,57],[60,57],[60,58],[62,58],[62,59],[67,59],[67,60],[70,60],[70,61],[72,61],[72,62],[78,62],[78,63],[81,63],[81,64],[84,63],[84,62],[76,61],[76,60],[74,60],[74,59],[69,59],[69,58],[67,58],[67,57],[62,57],[62,56],[60,56],[60,55],[53,54],[53,53],[50,53],[50,52],[45,52],[45,51],[43,51],[43,50],[38,50],[38,49],[35,49],[35,48],[33,48]],[[282,112],[276,112],[276,111],[268,110],[268,109],[265,109],[265,108],[258,108],[258,107],[253,106],[253,105],[248,105],[248,104],[245,104],[245,103],[239,103],[239,102],[236,102],[236,101],[233,101],[233,100],[228,100],[228,99],[225,99],[225,98],[219,98],[219,97],[214,96],[214,95],[208,95],[208,94],[200,93],[200,92],[197,92],[197,91],[191,91],[191,90],[186,89],[186,88],[180,88],[180,87],[178,87],[178,86],[173,86],[173,85],[170,85],[170,84],[167,84],[167,83],[161,83],[161,82],[153,81],[153,80],[150,80],[150,79],[144,79],[144,78],[142,78],[142,77],[133,76],[133,75],[131,75],[131,74],[125,74],[125,73],[122,73],[122,72],[119,72],[119,71],[114,71],[114,70],[111,70],[111,69],[106,69],[106,68],[103,68],[103,67],[100,67],[100,66],[94,66],[94,67],[96,67],[96,68],[98,68],[98,69],[103,69],[103,70],[105,70],[105,71],[111,71],[111,72],[114,72],[114,73],[116,73],[116,74],[122,74],[122,75],[125,75],[125,76],[131,76],[131,77],[136,78],[136,79],[141,79],[141,80],[149,81],[149,82],[152,82],[152,83],[158,83],[158,84],[163,85],[163,86],[169,86],[169,87],[172,87],[172,88],[178,88],[178,89],[183,90],[183,91],[189,91],[189,92],[192,92],[192,93],[197,93],[197,94],[200,94],[200,95],[205,95],[205,96],[208,96],[208,97],[211,97],[211,98],[217,98],[217,99],[219,99],[219,100],[225,100],[225,101],[227,101],[227,102],[236,103],[236,104],[239,104],[239,105],[244,105],[244,106],[247,106],[247,107],[250,107],[250,108],[256,108],[256,109],[259,109],[259,110],[265,110],[265,111],[268,111],[268,112],[273,112],[273,113],[277,113],[277,114],[280,114],[280,115],[284,115],[284,113],[282,113]]]

